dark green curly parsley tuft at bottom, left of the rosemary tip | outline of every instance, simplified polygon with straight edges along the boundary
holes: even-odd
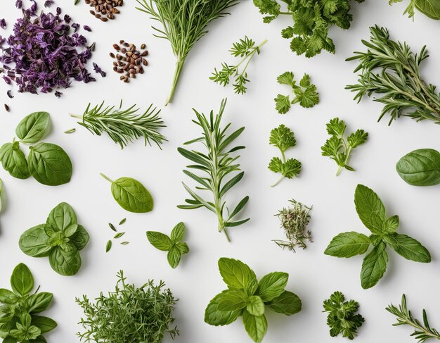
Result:
[[[330,295],[330,299],[324,300],[324,312],[328,312],[327,325],[330,327],[330,336],[337,337],[342,333],[342,337],[354,339],[358,328],[361,328],[365,319],[360,314],[356,314],[359,303],[354,300],[345,301],[344,294],[335,292]]]

